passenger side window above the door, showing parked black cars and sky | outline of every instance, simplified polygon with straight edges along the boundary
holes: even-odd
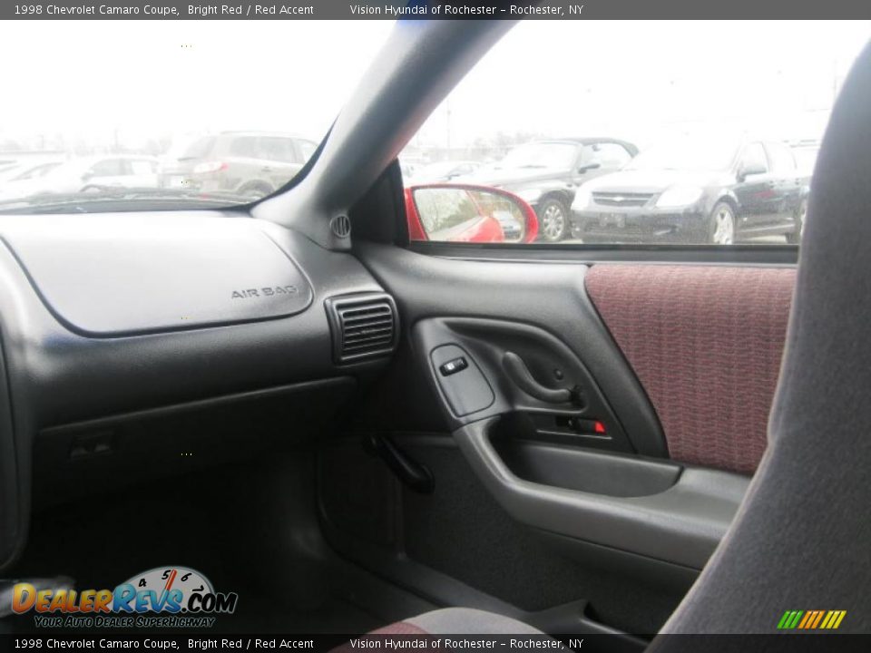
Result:
[[[721,48],[724,29],[766,47]],[[536,224],[518,240],[500,222],[489,243],[797,245],[819,142],[868,34],[868,21],[524,21],[401,152],[403,180],[512,193]],[[461,161],[479,165],[444,172]]]

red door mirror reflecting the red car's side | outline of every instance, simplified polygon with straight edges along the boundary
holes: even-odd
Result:
[[[506,190],[439,183],[406,188],[412,240],[529,243],[538,236],[535,211]]]

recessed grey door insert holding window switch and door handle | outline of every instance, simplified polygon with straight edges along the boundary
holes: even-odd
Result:
[[[434,388],[450,407],[453,430],[498,414],[524,414],[531,431],[585,446],[627,453],[665,455],[659,434],[629,437],[578,356],[540,327],[504,320],[434,317],[412,328],[412,341],[430,358]],[[462,356],[467,367],[445,375],[441,365]],[[514,357],[533,385],[505,368]],[[558,375],[557,375],[558,373]],[[542,381],[539,382],[539,379]],[[538,386],[538,390],[534,389]],[[495,390],[495,395],[494,391]],[[532,394],[531,394],[532,393]],[[458,411],[456,404],[463,405]],[[602,434],[592,424],[602,424]],[[584,429],[584,424],[591,424]]]

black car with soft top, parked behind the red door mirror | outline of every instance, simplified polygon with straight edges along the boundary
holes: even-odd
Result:
[[[631,143],[611,138],[534,141],[515,147],[470,179],[528,201],[538,216],[540,238],[556,242],[568,234],[569,207],[578,187],[620,170],[637,153]]]

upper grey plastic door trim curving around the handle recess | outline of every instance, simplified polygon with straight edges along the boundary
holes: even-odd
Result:
[[[437,258],[367,242],[357,243],[355,253],[396,298],[412,334],[419,332],[417,323],[428,317],[491,319],[533,327],[580,361],[622,432],[633,443],[643,443],[638,444],[640,453],[668,455],[650,400],[586,295],[586,266],[553,263],[531,270],[524,263]],[[500,401],[497,393],[494,405]],[[456,423],[451,424],[455,428]]]

